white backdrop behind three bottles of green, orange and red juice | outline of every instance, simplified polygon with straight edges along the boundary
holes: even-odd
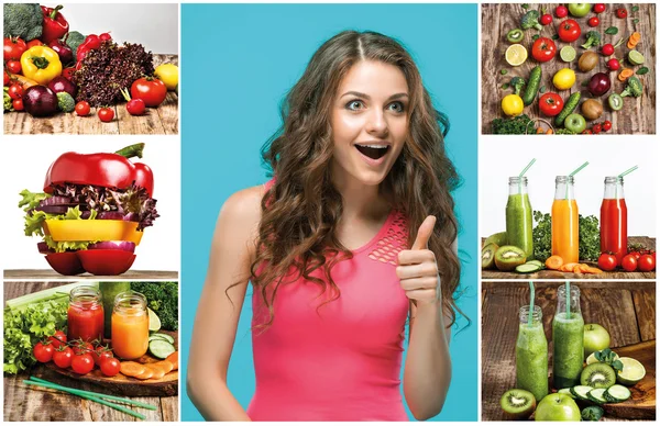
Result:
[[[658,141],[640,136],[481,136],[480,141],[480,225],[481,236],[506,229],[505,208],[508,178],[518,176],[527,164],[537,161],[526,173],[529,202],[534,210],[550,213],[554,178],[575,175],[575,200],[582,215],[601,221],[604,180],[632,166],[637,170],[624,178],[628,208],[628,235],[656,236]]]

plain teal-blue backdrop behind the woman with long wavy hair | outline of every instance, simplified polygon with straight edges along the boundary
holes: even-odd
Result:
[[[472,324],[465,327],[468,321],[459,317],[451,339],[451,388],[433,421],[476,421],[477,5],[182,4],[182,25],[183,366],[222,203],[266,181],[260,148],[278,128],[279,102],[314,52],[340,31],[371,30],[408,48],[436,108],[451,123],[447,146],[463,179],[454,192],[462,227],[459,305]],[[228,378],[244,407],[254,392],[251,315],[246,302]],[[202,421],[185,393],[185,369],[180,383],[182,419]]]

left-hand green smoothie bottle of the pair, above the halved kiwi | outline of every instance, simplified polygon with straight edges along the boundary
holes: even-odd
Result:
[[[541,401],[548,394],[548,340],[541,309],[534,306],[531,323],[529,315],[529,305],[520,307],[516,340],[516,388],[531,392],[537,401]]]

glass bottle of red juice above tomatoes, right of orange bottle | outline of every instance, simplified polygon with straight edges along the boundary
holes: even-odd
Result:
[[[624,197],[624,178],[605,178],[601,204],[601,251],[616,256],[616,265],[628,254],[628,208]]]

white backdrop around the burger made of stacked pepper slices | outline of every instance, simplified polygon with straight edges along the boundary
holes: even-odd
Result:
[[[98,120],[96,116],[89,120]],[[154,172],[156,210],[161,217],[144,231],[135,248],[131,270],[178,271],[180,254],[180,150],[178,136],[3,136],[0,155],[0,200],[4,269],[48,269],[36,250],[40,237],[23,232],[25,213],[18,208],[19,192],[28,189],[43,192],[44,178],[51,164],[66,152],[81,154],[114,153],[124,146],[144,142],[144,162]]]

